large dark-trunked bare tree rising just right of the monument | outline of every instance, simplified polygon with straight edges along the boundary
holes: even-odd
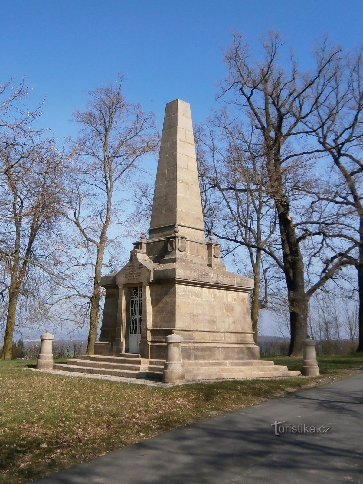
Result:
[[[321,276],[305,290],[302,246],[307,239],[318,237],[320,248],[315,257],[321,257],[322,247],[332,250],[326,241],[331,237],[329,231],[333,224],[322,212],[313,218],[299,220],[301,209],[298,205],[295,209],[291,205],[293,200],[302,198],[302,193],[299,195],[296,191],[297,185],[303,188],[303,193],[316,191],[312,190],[311,184],[317,174],[313,176],[311,170],[325,150],[313,142],[309,144],[308,136],[312,130],[306,126],[305,120],[316,112],[317,103],[311,101],[310,92],[324,73],[329,72],[340,56],[340,50],[323,47],[315,68],[302,74],[292,55],[287,68],[280,67],[278,54],[282,45],[280,35],[270,32],[262,38],[264,59],[254,63],[248,45],[242,43],[240,34],[235,34],[225,56],[228,77],[223,83],[221,97],[228,106],[239,110],[258,133],[250,142],[259,145],[266,160],[268,183],[265,191],[273,199],[277,212],[281,257],[266,247],[261,249],[269,253],[284,272],[291,327],[289,354],[299,355],[307,334],[309,297],[344,265],[341,254],[331,264],[326,264]],[[324,88],[325,85],[321,87]],[[306,179],[309,172],[311,176]],[[328,210],[327,207],[324,210]],[[314,210],[310,208],[310,212]],[[344,255],[347,256],[350,250],[351,246],[343,251]]]

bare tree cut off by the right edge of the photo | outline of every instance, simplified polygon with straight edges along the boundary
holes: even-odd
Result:
[[[327,57],[327,41],[320,50],[319,62]],[[331,48],[330,48],[331,50]],[[314,103],[314,116],[304,124],[316,136],[320,147],[326,151],[338,170],[341,182],[321,198],[335,204],[336,210],[346,208],[348,238],[352,253],[337,252],[328,261],[333,264],[338,257],[357,269],[359,294],[359,345],[363,351],[363,51],[350,56],[336,56],[326,68],[318,83],[310,86],[310,103]]]

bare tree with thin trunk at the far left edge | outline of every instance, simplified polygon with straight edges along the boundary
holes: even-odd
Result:
[[[0,151],[0,259],[6,269],[1,296],[7,302],[4,359],[11,358],[19,296],[36,294],[40,272],[54,275],[58,261],[50,234],[61,207],[60,156],[50,141],[34,142],[32,136],[32,143],[8,144]]]

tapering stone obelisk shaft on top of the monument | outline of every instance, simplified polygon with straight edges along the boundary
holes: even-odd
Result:
[[[174,233],[205,242],[190,105],[166,105],[157,167],[149,241]]]

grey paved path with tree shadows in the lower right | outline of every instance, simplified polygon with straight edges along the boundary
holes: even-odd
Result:
[[[276,436],[274,421],[330,432]],[[363,374],[144,440],[38,483],[363,483]]]

